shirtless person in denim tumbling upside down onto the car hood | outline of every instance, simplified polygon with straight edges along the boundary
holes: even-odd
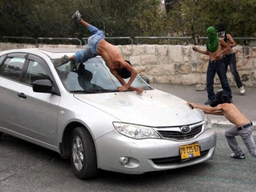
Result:
[[[85,49],[79,50],[70,58],[65,55],[60,60],[56,60],[54,63],[55,66],[67,63],[68,60],[72,60],[75,63],[85,62],[90,58],[94,58],[97,55],[100,55],[103,60],[105,60],[107,67],[110,68],[110,72],[122,84],[122,87],[118,87],[119,91],[127,91],[130,89],[136,91],[139,94],[142,94],[142,89],[131,86],[132,82],[137,76],[137,71],[132,67],[132,65],[124,60],[124,58],[122,58],[121,53],[119,53],[119,50],[115,46],[105,41],[104,32],[83,20],[79,11],[75,11],[73,18],[82,23],[82,25],[85,26],[90,31],[90,33],[92,33],[92,36],[88,38],[88,43]],[[129,78],[129,81],[126,83],[123,78]]]

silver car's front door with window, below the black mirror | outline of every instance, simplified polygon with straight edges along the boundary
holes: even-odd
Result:
[[[34,142],[57,146],[59,95],[33,92],[33,81],[48,79],[56,88],[50,68],[43,58],[28,55],[16,101],[18,131]]]

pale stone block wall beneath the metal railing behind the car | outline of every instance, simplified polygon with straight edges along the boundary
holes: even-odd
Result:
[[[0,43],[0,50],[13,48],[33,48],[35,45]],[[39,45],[38,47],[72,47],[66,45]],[[130,60],[139,75],[149,78],[150,82],[181,85],[206,85],[208,55],[196,53],[192,45],[128,45],[117,46],[124,59]],[[199,47],[206,49],[206,46]],[[256,47],[236,46],[237,68],[242,83],[247,87],[256,87]],[[255,55],[255,58],[248,56]],[[228,82],[235,85],[233,75],[228,70]],[[218,75],[215,85],[220,85]]]

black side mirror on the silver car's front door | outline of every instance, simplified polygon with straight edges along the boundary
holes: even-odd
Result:
[[[35,80],[32,87],[34,92],[54,93],[53,83],[50,80]]]

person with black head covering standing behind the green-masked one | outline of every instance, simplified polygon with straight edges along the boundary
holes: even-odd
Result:
[[[225,33],[225,23],[218,23],[217,26],[218,29],[218,36],[220,38],[223,38],[223,40],[228,44],[229,48],[226,51],[226,54],[223,55],[223,60],[226,66],[226,73],[228,70],[228,65],[230,65],[230,71],[232,75],[235,78],[236,85],[240,89],[240,93],[244,94],[245,93],[245,87],[242,85],[237,65],[236,65],[236,57],[235,57],[235,51],[233,50],[233,47],[237,46],[237,43],[234,41],[232,36],[228,33]]]

